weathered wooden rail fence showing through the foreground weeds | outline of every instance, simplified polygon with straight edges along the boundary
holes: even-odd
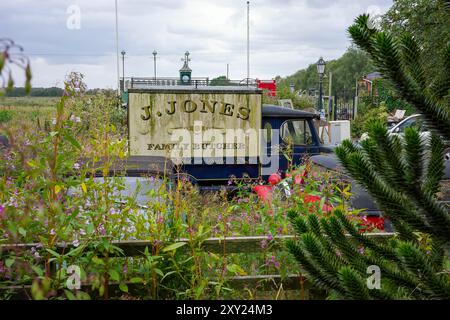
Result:
[[[369,237],[377,238],[380,240],[390,238],[393,235],[393,233],[368,234]],[[200,248],[205,252],[211,252],[218,255],[263,253],[274,250],[282,250],[284,242],[288,239],[295,239],[295,237],[296,236],[291,235],[276,236],[273,238],[273,240],[271,240],[269,249],[263,249],[261,247],[261,242],[264,240],[268,240],[268,238],[264,236],[208,238],[202,242]],[[189,242],[189,240],[179,239],[176,242]],[[141,240],[112,241],[112,244],[120,248],[122,250],[122,253],[112,253],[109,254],[109,257],[139,257],[144,255],[146,248],[148,248],[148,252],[153,252],[153,249],[155,248],[153,242]],[[37,244],[35,243],[0,245],[0,257],[5,254],[7,255],[11,253],[22,252],[24,250],[31,250],[31,248],[36,246]],[[164,245],[161,244],[159,244],[158,246],[159,248],[161,248],[161,246],[164,247]],[[180,249],[186,247],[187,246],[184,246]],[[53,249],[63,254],[64,252],[69,252],[74,248],[75,247],[73,245],[59,243],[56,245],[56,248]],[[129,287],[131,287],[131,289],[133,287],[139,287],[139,285],[131,283],[129,283],[128,285]],[[324,297],[323,291],[314,288],[311,283],[307,281],[307,279],[299,274],[291,274],[286,277],[281,277],[277,274],[228,277],[227,285],[235,289],[254,288],[260,291],[279,290],[280,288],[284,290],[302,290],[302,292],[304,292],[305,299]],[[118,283],[110,283],[109,290],[111,291],[111,294],[118,292],[118,286]],[[142,285],[140,286],[142,287]],[[89,285],[84,285],[83,287],[87,288],[89,287]],[[28,298],[30,296],[30,289],[31,285],[0,287],[1,291],[12,290],[13,298]]]

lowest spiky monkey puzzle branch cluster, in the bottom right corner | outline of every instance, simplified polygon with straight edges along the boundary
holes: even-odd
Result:
[[[287,242],[302,271],[342,299],[450,298],[443,261],[433,261],[432,252],[424,253],[412,242],[374,240],[339,210],[322,218],[291,210],[289,218],[296,230],[302,230],[297,240]],[[366,285],[373,265],[381,270],[380,289]]]

